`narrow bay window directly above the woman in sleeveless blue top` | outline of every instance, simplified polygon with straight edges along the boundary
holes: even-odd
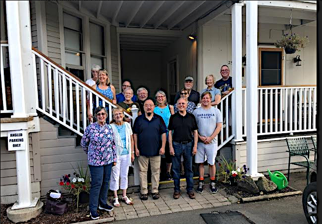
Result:
[[[90,64],[105,68],[104,27],[89,22]]]

